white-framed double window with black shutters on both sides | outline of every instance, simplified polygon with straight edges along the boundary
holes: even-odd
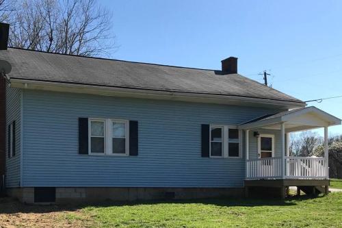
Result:
[[[129,121],[89,119],[89,153],[93,155],[127,155]]]

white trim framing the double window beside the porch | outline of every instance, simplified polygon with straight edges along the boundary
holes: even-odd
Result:
[[[212,156],[211,155],[211,128],[212,127],[220,127],[222,128],[222,156]],[[234,156],[229,156],[228,153],[228,143],[229,143],[229,134],[228,130],[229,129],[237,129],[237,126],[231,126],[231,125],[209,125],[209,157],[213,158],[228,158],[228,159],[241,159],[241,151],[242,151],[242,141],[241,141],[241,130],[239,131],[239,156],[234,157]]]

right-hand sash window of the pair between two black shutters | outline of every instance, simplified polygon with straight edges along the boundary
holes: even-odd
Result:
[[[126,121],[112,121],[112,153],[127,154],[127,123]]]

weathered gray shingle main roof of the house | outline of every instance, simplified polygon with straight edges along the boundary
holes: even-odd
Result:
[[[9,76],[14,79],[220,94],[303,103],[242,75],[224,75],[221,71],[14,48],[0,51],[0,60],[10,62],[12,72]]]

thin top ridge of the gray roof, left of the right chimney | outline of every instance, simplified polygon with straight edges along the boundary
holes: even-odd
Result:
[[[73,57],[79,57],[79,58],[89,58],[89,59],[95,59],[95,60],[111,60],[111,61],[117,61],[117,62],[129,62],[129,63],[135,63],[135,64],[148,64],[148,65],[154,65],[154,66],[169,66],[169,67],[175,67],[175,68],[186,68],[186,69],[200,70],[200,71],[220,71],[220,70],[207,69],[207,68],[196,68],[196,67],[188,67],[188,66],[173,66],[173,65],[167,65],[167,64],[155,64],[155,63],[151,63],[151,62],[136,62],[136,61],[129,61],[129,60],[116,60],[116,59],[111,59],[111,58],[94,57],[94,56],[71,55],[71,54],[65,54],[65,53],[54,53],[54,52],[48,52],[48,51],[23,49],[23,48],[20,48],[20,47],[9,47],[9,48],[10,49],[23,50],[23,51],[33,51],[33,52],[47,53],[47,54],[53,54],[53,55],[66,55],[66,56],[73,56]]]

